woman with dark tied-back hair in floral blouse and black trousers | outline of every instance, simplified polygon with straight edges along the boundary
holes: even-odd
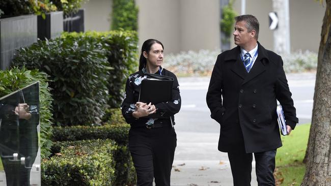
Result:
[[[137,173],[137,186],[170,185],[170,173],[177,143],[174,129],[174,114],[179,112],[181,99],[175,74],[161,67],[163,45],[149,39],[142,46],[139,71],[131,74],[126,81],[122,114],[131,125],[129,131],[129,150]],[[172,100],[167,103],[138,102],[141,81],[145,73],[170,76],[174,78]],[[149,118],[156,113],[158,118]],[[147,116],[147,117],[146,117]]]

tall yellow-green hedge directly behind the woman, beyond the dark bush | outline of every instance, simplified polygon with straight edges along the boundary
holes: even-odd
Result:
[[[119,108],[123,100],[126,78],[137,69],[137,33],[134,31],[64,33],[63,38],[92,37],[106,50],[109,71],[108,105]]]

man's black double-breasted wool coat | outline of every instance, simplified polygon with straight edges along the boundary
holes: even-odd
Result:
[[[283,107],[287,125],[294,129],[298,118],[291,95],[281,56],[260,43],[258,57],[249,73],[241,60],[239,46],[219,54],[207,92],[211,118],[220,124],[218,150],[244,148],[251,153],[281,147],[277,100]]]

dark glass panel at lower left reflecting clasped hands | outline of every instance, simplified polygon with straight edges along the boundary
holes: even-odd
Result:
[[[39,82],[0,98],[0,185],[40,185]]]

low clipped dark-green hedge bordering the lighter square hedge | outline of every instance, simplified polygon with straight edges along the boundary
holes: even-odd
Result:
[[[131,185],[136,181],[136,173],[133,167],[131,154],[128,150],[128,131],[130,126],[106,125],[101,127],[73,126],[54,127],[53,141],[75,141],[86,139],[112,139],[119,144],[115,153],[116,181],[115,185]],[[60,151],[60,146],[54,143],[52,152]]]

